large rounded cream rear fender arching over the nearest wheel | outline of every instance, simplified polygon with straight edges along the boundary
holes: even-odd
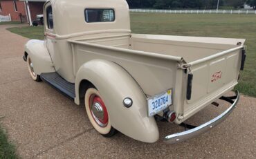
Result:
[[[154,117],[147,116],[147,100],[138,83],[124,68],[113,62],[95,59],[82,65],[75,79],[76,97],[80,97],[80,82],[86,79],[102,95],[112,126],[125,135],[143,142],[159,138]],[[123,105],[125,97],[133,100],[131,107]],[[79,99],[75,99],[79,103]]]

